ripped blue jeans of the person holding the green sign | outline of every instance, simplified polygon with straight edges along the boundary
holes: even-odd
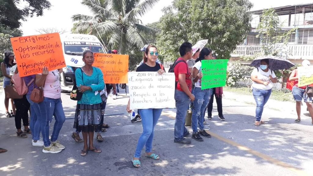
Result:
[[[203,121],[204,121],[204,113],[205,109],[208,106],[208,103],[211,99],[212,89],[204,89],[201,90],[201,87],[195,87],[193,90],[193,95],[195,96],[195,100],[193,101],[192,107],[192,131],[198,132],[197,124],[199,120],[199,128],[203,130]]]

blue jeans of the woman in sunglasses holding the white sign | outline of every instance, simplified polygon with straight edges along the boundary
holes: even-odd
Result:
[[[134,158],[139,158],[142,148],[146,145],[146,153],[151,152],[154,127],[156,126],[163,109],[140,109],[142,122],[142,134],[138,139],[138,144]]]

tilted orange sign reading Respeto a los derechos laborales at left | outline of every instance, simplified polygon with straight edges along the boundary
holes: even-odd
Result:
[[[11,38],[15,60],[20,76],[34,75],[65,67],[59,33]]]

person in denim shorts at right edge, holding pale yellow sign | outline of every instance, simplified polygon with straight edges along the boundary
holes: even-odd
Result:
[[[302,61],[302,66],[304,67],[308,67],[310,66],[310,61],[308,60],[304,60]],[[312,98],[310,98],[306,92],[306,86],[298,86],[298,81],[299,81],[299,76],[298,76],[298,69],[295,69],[292,71],[292,73],[290,74],[289,77],[290,81],[294,81],[294,86],[292,87],[292,95],[295,99],[296,105],[295,105],[295,109],[297,111],[297,115],[298,118],[295,119],[296,123],[299,123],[301,121],[300,115],[301,115],[301,101],[302,99],[304,100],[307,109],[310,112],[310,116],[312,118],[312,124],[313,124],[313,107],[312,107]],[[313,85],[309,85],[309,86],[313,86]]]

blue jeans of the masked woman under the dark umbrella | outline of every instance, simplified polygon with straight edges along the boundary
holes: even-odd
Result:
[[[261,116],[263,113],[264,105],[269,100],[269,96],[272,93],[272,89],[262,90],[262,89],[252,89],[253,97],[256,103],[255,109],[255,121],[261,121]]]

